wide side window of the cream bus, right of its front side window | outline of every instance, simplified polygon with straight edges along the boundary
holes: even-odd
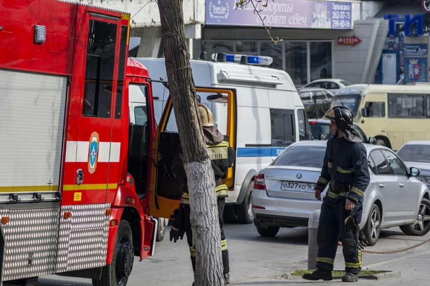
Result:
[[[389,117],[423,117],[424,97],[406,94],[388,95]]]

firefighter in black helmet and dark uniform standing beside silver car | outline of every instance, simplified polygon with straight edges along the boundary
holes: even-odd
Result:
[[[346,275],[344,282],[358,280],[361,249],[367,245],[359,223],[364,191],[370,181],[367,154],[353,125],[353,113],[344,106],[331,108],[324,118],[331,121],[333,137],[327,141],[321,176],[315,186],[315,198],[327,185],[318,223],[317,269],[303,275],[308,280],[331,280],[339,236],[342,241]],[[353,227],[355,225],[355,227]]]

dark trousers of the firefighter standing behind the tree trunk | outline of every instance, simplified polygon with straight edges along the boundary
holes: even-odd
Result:
[[[223,213],[224,213],[224,206],[226,205],[226,199],[225,198],[218,198],[217,200],[218,205],[218,218],[220,220],[220,229],[221,229],[221,250],[223,254],[223,273],[229,273],[230,272],[230,266],[229,266],[229,251],[227,249],[227,240],[226,235],[224,234],[224,222],[223,222]],[[196,272],[196,252],[193,247],[193,232],[191,229],[191,221],[190,221],[190,205],[185,205],[185,233],[187,234],[187,242],[188,246],[190,247],[190,255],[191,255],[191,264],[193,265],[193,271]]]

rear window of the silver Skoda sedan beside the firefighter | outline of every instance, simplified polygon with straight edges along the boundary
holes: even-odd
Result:
[[[282,152],[272,166],[322,168],[325,146],[291,146]]]

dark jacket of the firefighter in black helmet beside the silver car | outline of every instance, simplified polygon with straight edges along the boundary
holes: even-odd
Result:
[[[369,181],[364,145],[343,137],[328,139],[321,176],[315,188],[324,190],[329,184],[327,196],[333,201],[346,197],[358,202],[363,200]]]

